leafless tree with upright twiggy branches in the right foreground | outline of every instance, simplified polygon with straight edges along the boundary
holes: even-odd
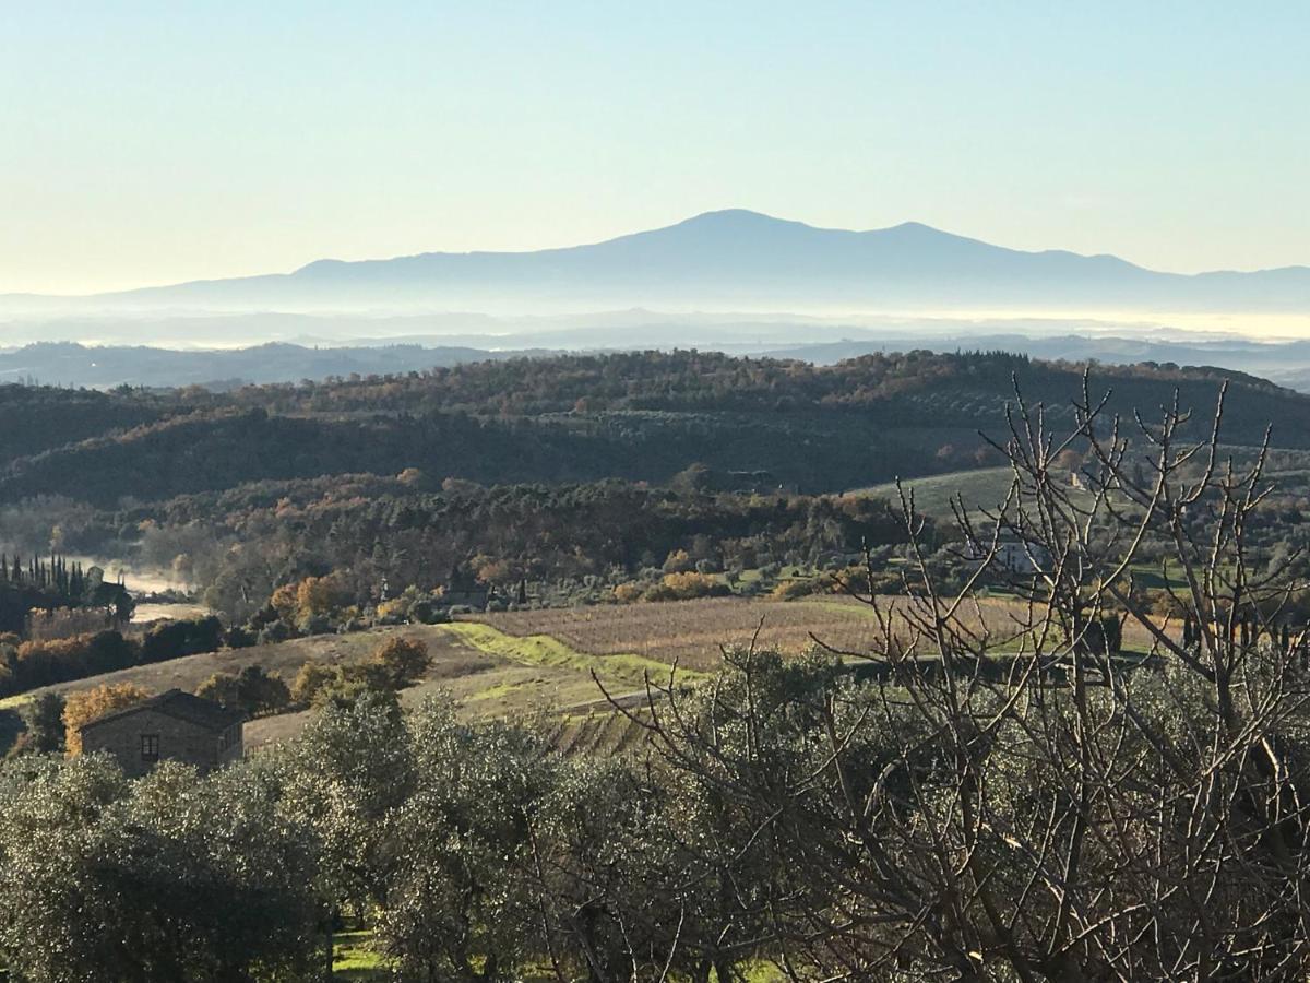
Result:
[[[1157,422],[1107,400],[1017,391],[1009,494],[956,503],[963,588],[939,587],[903,490],[904,596],[846,585],[874,650],[730,654],[711,688],[651,683],[631,714],[731,809],[718,877],[793,979],[1310,966],[1301,585],[1248,543],[1268,439],[1234,463],[1222,391],[1204,425],[1176,397]],[[1169,613],[1141,583],[1162,547]]]

